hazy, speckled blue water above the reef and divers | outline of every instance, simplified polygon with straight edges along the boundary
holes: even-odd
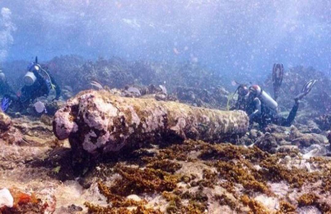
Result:
[[[222,75],[331,70],[327,0],[1,0],[0,59],[198,61]]]

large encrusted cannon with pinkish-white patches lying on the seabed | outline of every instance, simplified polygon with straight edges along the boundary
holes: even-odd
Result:
[[[219,142],[245,133],[249,118],[243,111],[197,108],[178,102],[115,96],[86,90],[56,112],[53,130],[71,147],[91,154],[187,138]]]

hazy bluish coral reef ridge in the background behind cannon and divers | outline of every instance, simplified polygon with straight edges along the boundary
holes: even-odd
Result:
[[[15,61],[3,65],[4,70],[10,74],[8,75],[10,82],[15,82],[16,90],[23,84],[22,74],[18,74],[18,71],[24,70],[27,64],[28,62]],[[64,55],[55,57],[45,64],[59,82],[63,90],[63,98],[69,98],[81,90],[90,89],[91,81],[111,89],[124,89],[127,85],[149,88],[150,84],[155,86],[161,84],[166,86],[168,94],[177,95],[182,102],[224,109],[228,92],[219,85],[227,90],[230,86],[229,82],[224,81],[224,77],[221,78],[217,72],[198,63],[128,61],[118,57],[88,61],[77,55]],[[254,83],[258,81],[256,76],[245,75],[247,75],[245,79],[250,79]],[[310,79],[317,79],[318,82],[301,103],[297,123],[305,124],[307,119],[311,120],[319,117],[321,113],[330,112],[331,82],[329,78],[312,67],[302,66],[290,68],[284,72],[284,80],[277,99],[280,111],[283,113],[289,111],[294,104],[293,97]],[[263,88],[272,91],[271,87],[270,73]]]

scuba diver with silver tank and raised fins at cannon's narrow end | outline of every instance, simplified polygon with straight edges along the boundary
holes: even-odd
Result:
[[[256,122],[262,127],[265,127],[268,124],[290,126],[297,114],[299,100],[310,92],[315,85],[316,80],[310,80],[303,86],[301,93],[294,98],[294,106],[288,117],[283,118],[277,113],[278,103],[276,102],[283,80],[283,74],[283,64],[274,64],[272,69],[272,82],[275,99],[262,90],[258,85],[247,87],[245,84],[240,84],[235,91],[235,93],[238,91],[238,99],[230,110],[245,111],[249,115],[250,123]]]

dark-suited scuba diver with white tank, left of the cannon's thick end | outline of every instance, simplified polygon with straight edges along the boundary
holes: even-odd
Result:
[[[19,111],[27,108],[34,99],[40,96],[48,96],[50,90],[56,91],[55,99],[59,99],[61,89],[55,82],[54,77],[38,64],[37,57],[35,62],[32,62],[27,67],[27,72],[24,75],[24,86],[21,92],[15,96],[11,93],[6,93],[1,100],[1,109],[5,112],[8,107],[15,104]]]

